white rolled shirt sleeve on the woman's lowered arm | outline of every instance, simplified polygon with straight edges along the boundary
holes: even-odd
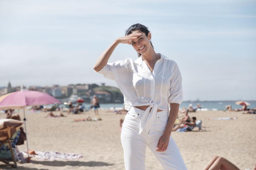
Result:
[[[173,75],[170,79],[170,96],[168,103],[181,104],[183,101],[182,77],[178,65],[175,63],[173,67]]]

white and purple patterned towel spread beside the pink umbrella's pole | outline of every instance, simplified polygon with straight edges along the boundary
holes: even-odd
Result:
[[[26,152],[22,153],[24,155],[28,155]],[[29,154],[30,157],[34,157],[41,160],[61,160],[61,159],[79,159],[82,158],[82,155],[74,154],[74,153],[59,153],[59,152],[42,152],[42,151],[35,151],[36,155]]]

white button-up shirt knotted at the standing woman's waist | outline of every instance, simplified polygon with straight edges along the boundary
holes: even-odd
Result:
[[[157,60],[152,73],[142,56],[135,61],[127,58],[107,63],[98,71],[105,78],[116,81],[124,95],[125,110],[129,111],[131,106],[152,107],[150,113],[151,107],[144,112],[149,116],[141,119],[141,131],[146,122],[150,125],[157,108],[169,113],[169,103],[181,104],[183,100],[182,78],[177,63],[160,53],[158,55],[161,58]]]

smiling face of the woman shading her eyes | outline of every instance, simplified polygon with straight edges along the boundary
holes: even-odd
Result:
[[[141,32],[139,30],[133,31],[132,33],[141,33],[141,35],[138,36],[137,39],[133,39],[130,41],[135,51],[142,55],[147,53],[152,47],[150,44],[151,33],[149,32],[148,36],[146,36],[144,32]]]

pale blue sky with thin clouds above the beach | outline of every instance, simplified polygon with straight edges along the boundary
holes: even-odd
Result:
[[[256,100],[256,1],[0,0],[0,86],[106,83],[94,72],[132,24],[174,60],[184,100]],[[137,59],[119,44],[108,62]]]

